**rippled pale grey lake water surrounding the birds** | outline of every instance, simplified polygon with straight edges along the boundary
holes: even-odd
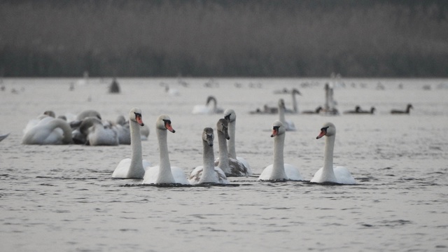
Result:
[[[10,135],[0,142],[1,251],[447,251],[448,89],[440,87],[448,80],[342,80],[339,111],[360,105],[376,113],[287,114],[297,131],[286,134],[285,162],[309,181],[323,165],[324,141],[316,136],[330,121],[337,127],[334,162],[349,168],[356,185],[248,177],[229,178],[231,186],[160,188],[111,179],[130,146],[27,146],[22,130],[46,110],[95,109],[115,120],[137,106],[151,127],[144,158],[157,163],[154,125],[165,113],[176,130],[168,136],[171,163],[188,174],[202,165],[202,130],[222,117],[191,114],[212,94],[218,106],[235,109],[237,154],[260,174],[272,163],[277,116],[248,112],[279,98],[291,108],[290,94],[274,91],[292,87],[302,92],[300,110],[315,109],[331,80],[185,78],[184,87],[176,78],[119,78],[122,92],[109,94],[111,79],[3,79],[0,134]],[[389,113],[408,103],[410,115]]]

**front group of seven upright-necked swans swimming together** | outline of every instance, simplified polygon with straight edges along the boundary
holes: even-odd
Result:
[[[155,122],[156,136],[159,145],[159,164],[143,160],[141,151],[140,127],[144,126],[141,110],[134,108],[129,113],[131,129],[132,157],[125,158],[118,163],[112,174],[116,179],[143,179],[143,184],[182,184],[195,185],[202,183],[228,184],[229,176],[252,175],[248,162],[237,157],[235,151],[235,121],[236,113],[233,109],[224,111],[224,118],[216,123],[218,136],[219,158],[214,158],[214,129],[204,128],[202,132],[203,162],[186,176],[183,169],[174,167],[169,162],[167,146],[167,132],[176,132],[172,127],[169,116],[161,115]],[[354,184],[355,179],[345,167],[333,167],[333,149],[335,145],[336,127],[332,123],[325,123],[316,139],[325,136],[324,165],[319,169],[310,182]],[[286,127],[276,120],[272,125],[274,137],[274,162],[263,169],[258,181],[304,181],[297,167],[283,162],[283,146],[286,137]],[[227,142],[233,143],[227,144]]]

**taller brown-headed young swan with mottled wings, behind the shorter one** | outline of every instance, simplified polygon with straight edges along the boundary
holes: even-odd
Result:
[[[229,158],[227,150],[227,141],[230,139],[228,132],[228,121],[224,118],[218,120],[216,123],[216,134],[218,134],[219,144],[219,158],[215,160],[215,166],[223,170],[225,176],[248,176],[249,171],[244,167],[243,163]]]

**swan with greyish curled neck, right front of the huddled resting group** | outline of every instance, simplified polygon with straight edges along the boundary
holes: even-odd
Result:
[[[118,134],[96,117],[85,118],[79,125],[79,132],[90,146],[118,146]]]

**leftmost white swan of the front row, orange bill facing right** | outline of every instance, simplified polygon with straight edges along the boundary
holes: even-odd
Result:
[[[125,158],[118,163],[115,171],[113,171],[112,178],[143,179],[145,175],[145,168],[150,167],[151,163],[143,160],[141,156],[140,127],[144,126],[144,123],[141,119],[140,109],[131,109],[129,112],[129,122],[131,131],[132,157]]]

